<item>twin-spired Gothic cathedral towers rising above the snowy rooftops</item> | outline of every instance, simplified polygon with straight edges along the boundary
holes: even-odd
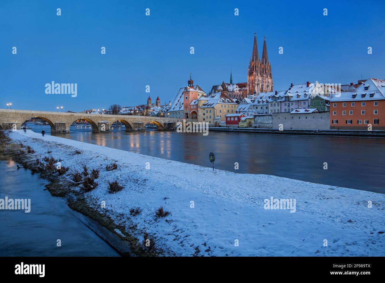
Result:
[[[266,37],[264,37],[262,60],[260,60],[256,33],[254,33],[253,53],[249,62],[247,88],[249,94],[273,91],[273,76],[271,75],[271,66],[267,57]]]

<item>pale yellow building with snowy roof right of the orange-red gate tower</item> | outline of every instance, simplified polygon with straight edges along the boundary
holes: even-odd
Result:
[[[224,116],[235,113],[238,107],[238,104],[233,99],[222,92],[202,95],[198,99],[193,100],[191,105],[196,105],[198,108],[198,122],[208,122],[209,126],[214,126],[215,117],[225,121]]]

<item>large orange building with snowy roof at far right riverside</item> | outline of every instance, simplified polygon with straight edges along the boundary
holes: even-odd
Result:
[[[330,99],[330,129],[385,130],[385,80],[370,78]]]

